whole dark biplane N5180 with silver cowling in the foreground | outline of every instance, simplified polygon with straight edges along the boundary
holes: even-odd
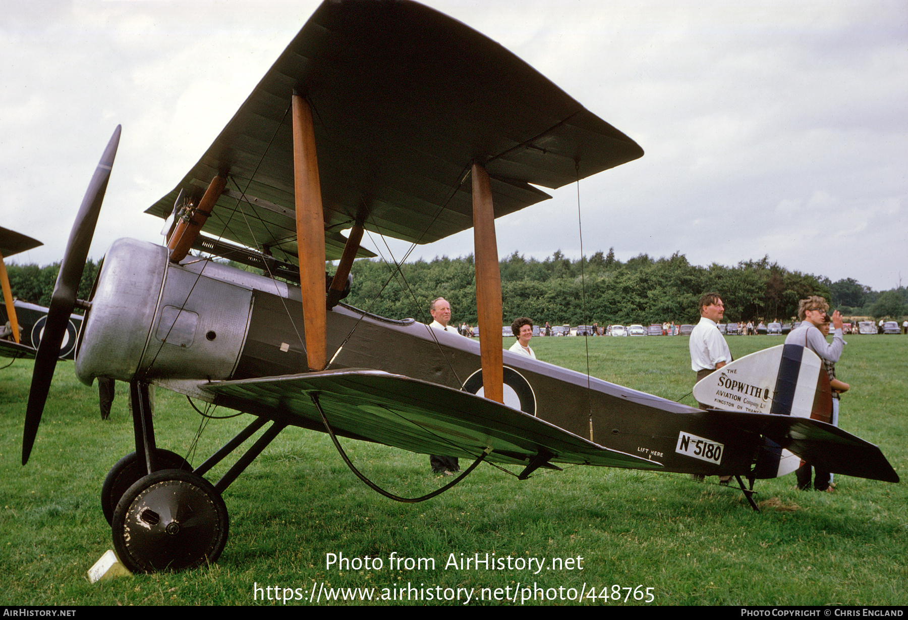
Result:
[[[165,218],[166,245],[114,242],[90,299],[76,300],[119,136],[117,127],[66,248],[23,463],[62,322],[80,305],[77,376],[127,381],[133,396],[135,452],[102,488],[114,548],[133,571],[216,560],[229,528],[222,493],[288,425],[472,459],[463,475],[483,460],[518,465],[520,478],[582,464],[737,475],[744,489],[741,475],[751,484],[775,475],[764,465],[781,446],[835,473],[898,481],[876,446],[782,407],[701,410],[503,351],[495,219],[548,198],[540,187],[643,150],[501,45],[426,6],[322,4],[198,164],[148,209]],[[342,302],[350,265],[368,255],[365,230],[420,244],[469,228],[479,343]],[[149,385],[253,420],[192,466],[155,444]],[[219,480],[203,477],[247,440]]]

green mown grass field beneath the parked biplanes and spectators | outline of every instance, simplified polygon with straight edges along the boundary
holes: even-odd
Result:
[[[880,445],[904,475],[908,338],[850,336],[848,341],[837,365],[838,375],[852,385],[842,401],[841,425]],[[731,336],[728,342],[740,357],[782,340]],[[588,346],[592,375],[692,403],[685,337],[534,338],[532,345],[539,359],[582,372]],[[904,483],[836,475],[837,492],[820,494],[793,490],[794,475],[758,481],[757,499],[764,509],[756,514],[740,492],[682,475],[577,466],[521,482],[482,465],[448,493],[403,505],[350,474],[327,435],[301,429],[285,430],[225,493],[231,534],[215,565],[92,585],[86,570],[111,548],[99,507],[100,485],[110,466],[133,450],[126,398],[118,395],[112,419],[102,422],[96,386],[79,384],[72,363],[58,365],[35,450],[23,467],[30,375],[31,363],[23,361],[0,371],[0,572],[5,583],[0,601],[5,605],[250,605],[273,598],[273,589],[265,590],[273,586],[281,592],[292,588],[290,596],[301,600],[287,603],[300,605],[313,587],[316,592],[375,588],[380,598],[408,584],[416,588],[410,597],[423,597],[404,601],[410,605],[434,605],[435,597],[446,594],[460,599],[443,603],[463,605],[459,588],[472,589],[470,605],[514,605],[496,595],[513,596],[515,588],[517,605],[524,588],[537,596],[527,604],[576,605],[581,590],[585,605],[646,604],[646,588],[652,588],[649,605],[908,603]],[[192,463],[201,463],[249,419],[212,421],[198,436]],[[187,454],[200,420],[185,398],[158,391],[159,446]],[[366,475],[399,495],[422,495],[444,483],[429,474],[425,455],[343,443]],[[326,565],[329,554],[369,555],[383,565],[339,570]],[[446,568],[451,555],[459,561],[461,554],[510,556],[512,565]],[[392,568],[392,555],[433,558],[435,568]],[[553,569],[553,558],[577,562],[577,557],[583,558],[582,569],[567,562]],[[524,564],[528,558],[546,560],[535,574],[535,564],[532,570],[520,569],[518,558]],[[542,590],[533,590],[534,583]],[[258,601],[256,585],[262,588]],[[637,586],[643,600],[635,601],[633,590],[623,589]],[[588,595],[590,589],[595,597]],[[540,592],[557,600],[539,601]],[[614,600],[616,594],[620,601]],[[480,595],[485,600],[478,600]],[[326,602],[323,594],[321,602]]]

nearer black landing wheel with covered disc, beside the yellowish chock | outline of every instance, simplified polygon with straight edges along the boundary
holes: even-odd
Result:
[[[114,512],[114,550],[133,573],[214,562],[227,544],[227,506],[200,475],[164,469],[143,476]]]

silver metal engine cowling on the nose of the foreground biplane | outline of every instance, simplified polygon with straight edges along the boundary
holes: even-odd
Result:
[[[115,241],[83,327],[79,380],[230,378],[252,310],[252,285],[236,280],[259,277],[234,272],[207,260],[171,265],[160,245]]]

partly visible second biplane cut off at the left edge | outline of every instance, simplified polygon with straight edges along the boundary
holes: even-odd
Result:
[[[44,334],[47,308],[13,297],[4,263],[4,256],[8,258],[38,245],[42,243],[37,239],[0,226],[0,286],[4,297],[4,305],[0,306],[0,356],[13,359],[35,357],[41,335]],[[65,331],[58,352],[60,359],[74,358],[75,337],[81,325],[82,316],[70,315],[69,321],[64,325]]]

